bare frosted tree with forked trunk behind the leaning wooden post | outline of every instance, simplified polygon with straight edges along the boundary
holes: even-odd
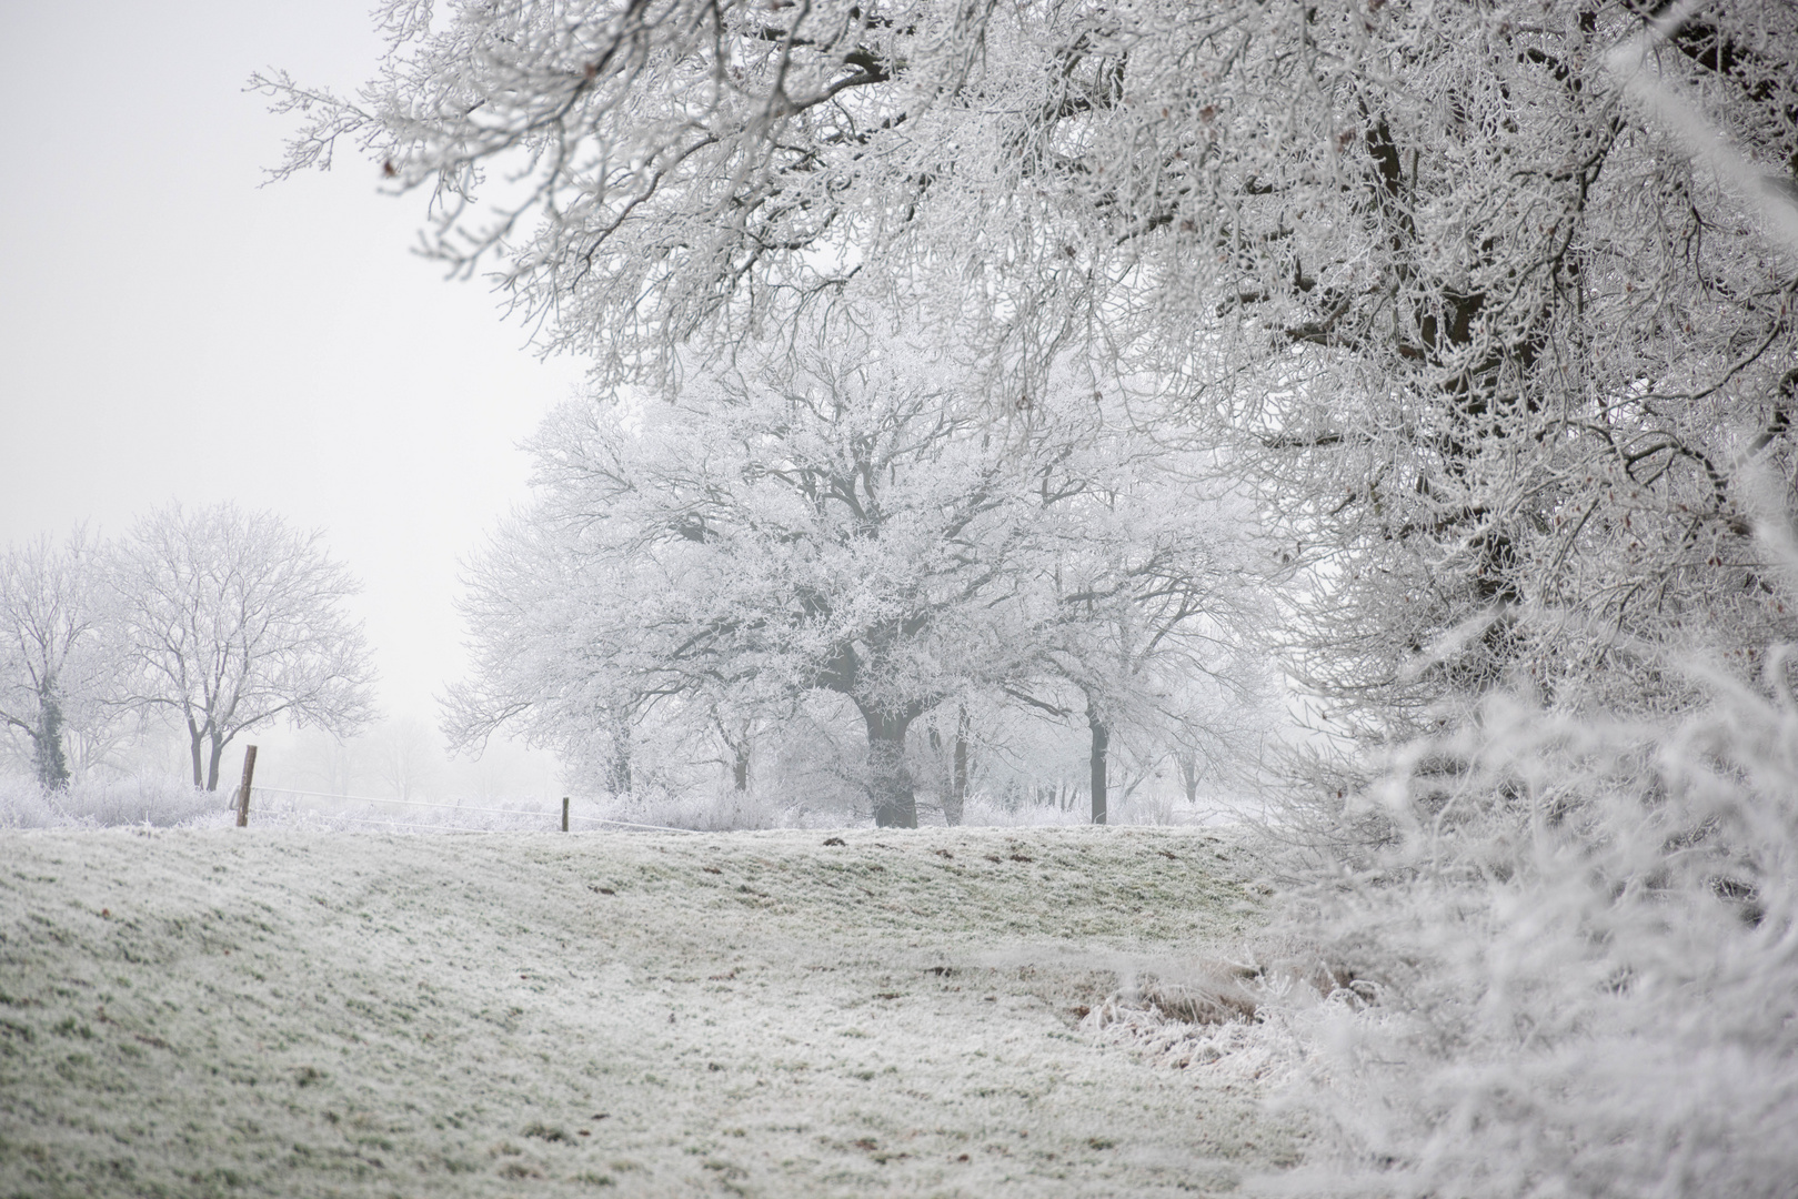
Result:
[[[356,582],[320,534],[230,503],[169,505],[119,546],[113,586],[126,696],[185,726],[196,787],[218,789],[219,755],[245,730],[284,719],[347,737],[369,723],[374,672],[343,611]]]

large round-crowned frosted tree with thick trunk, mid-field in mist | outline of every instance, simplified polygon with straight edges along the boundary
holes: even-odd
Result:
[[[658,703],[741,721],[829,690],[865,724],[876,820],[915,825],[912,723],[1023,669],[1007,622],[1039,446],[903,343],[850,358],[550,417],[538,502],[475,570],[460,737],[523,719],[556,744]]]

